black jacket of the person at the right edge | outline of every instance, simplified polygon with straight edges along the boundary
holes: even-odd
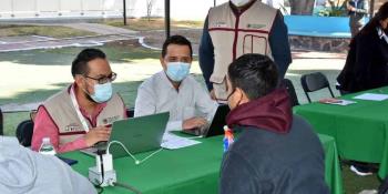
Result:
[[[337,81],[340,90],[348,92],[388,85],[388,43],[377,30],[354,38]]]

